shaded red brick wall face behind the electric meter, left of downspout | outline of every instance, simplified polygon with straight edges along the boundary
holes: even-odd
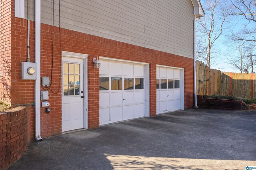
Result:
[[[28,20],[12,18],[12,103],[34,103],[34,80],[21,79],[21,62],[27,59]],[[30,22],[30,56],[34,62],[34,22]],[[34,107],[30,112],[30,138],[34,138]]]

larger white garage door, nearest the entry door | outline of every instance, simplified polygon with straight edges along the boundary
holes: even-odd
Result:
[[[145,116],[145,65],[101,60],[100,125]]]

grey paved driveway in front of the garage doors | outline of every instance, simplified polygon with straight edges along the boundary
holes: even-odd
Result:
[[[10,170],[256,166],[256,111],[176,111],[30,142]]]

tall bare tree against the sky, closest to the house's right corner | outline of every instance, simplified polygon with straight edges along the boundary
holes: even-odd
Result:
[[[206,62],[210,67],[212,59],[217,57],[218,52],[214,45],[223,33],[226,22],[226,13],[222,9],[224,0],[203,0],[205,17],[197,25],[197,58]]]

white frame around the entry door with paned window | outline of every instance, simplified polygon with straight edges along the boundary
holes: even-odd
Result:
[[[84,75],[84,128],[88,128],[88,54],[82,54],[82,53],[73,53],[69,51],[62,51],[62,58],[63,57],[70,57],[70,58],[80,58],[83,59],[83,75]],[[62,59],[63,62],[63,59]],[[62,77],[62,76],[61,76]],[[63,79],[62,79],[62,85],[63,85]],[[63,90],[63,89],[62,89]]]

